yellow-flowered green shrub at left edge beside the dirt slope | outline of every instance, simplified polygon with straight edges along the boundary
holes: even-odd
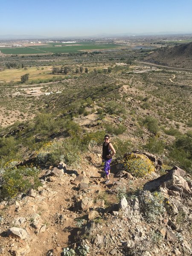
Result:
[[[6,168],[3,172],[3,198],[13,198],[18,193],[26,193],[29,188],[37,189],[41,185],[35,166]]]

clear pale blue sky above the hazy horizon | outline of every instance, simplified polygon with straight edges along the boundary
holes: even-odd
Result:
[[[192,32],[192,0],[0,0],[0,35]]]

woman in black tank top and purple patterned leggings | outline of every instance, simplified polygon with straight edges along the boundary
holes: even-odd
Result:
[[[104,161],[104,171],[107,178],[107,180],[105,181],[105,184],[109,183],[110,163],[111,163],[112,157],[116,153],[115,149],[113,148],[113,145],[109,141],[109,138],[110,138],[109,135],[106,134],[104,137],[105,142],[103,143],[103,147],[102,147],[102,151],[103,151],[102,159]]]

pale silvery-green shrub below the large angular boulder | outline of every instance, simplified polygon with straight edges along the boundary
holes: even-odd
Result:
[[[139,195],[140,209],[143,212],[144,218],[148,222],[157,221],[157,217],[166,212],[163,205],[163,195],[160,192],[140,193]]]

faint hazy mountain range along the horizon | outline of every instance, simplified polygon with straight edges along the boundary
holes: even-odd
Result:
[[[146,33],[101,33],[89,36],[44,36],[44,35],[0,35],[0,40],[40,40],[40,39],[69,39],[69,38],[115,38],[129,36],[160,36],[160,35],[191,35],[192,32],[146,32]]]

